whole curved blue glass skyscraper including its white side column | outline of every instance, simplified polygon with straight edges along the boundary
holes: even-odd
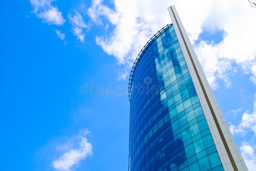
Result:
[[[174,6],[129,82],[129,171],[248,170]]]

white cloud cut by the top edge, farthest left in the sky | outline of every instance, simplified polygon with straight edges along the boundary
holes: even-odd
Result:
[[[62,16],[62,13],[57,6],[53,6],[52,2],[55,0],[29,0],[33,13],[36,16],[46,22],[47,24],[54,25],[63,25],[65,19]]]

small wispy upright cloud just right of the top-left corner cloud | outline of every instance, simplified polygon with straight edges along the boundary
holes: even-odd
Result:
[[[77,40],[84,42],[84,29],[89,28],[85,23],[82,15],[74,10],[74,15],[68,14],[69,22],[72,25],[71,31],[77,37]]]

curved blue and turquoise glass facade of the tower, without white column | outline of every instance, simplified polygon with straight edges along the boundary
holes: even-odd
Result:
[[[129,171],[223,170],[172,25],[140,52],[129,87]]]

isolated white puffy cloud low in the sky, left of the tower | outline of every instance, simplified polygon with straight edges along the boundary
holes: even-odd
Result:
[[[57,170],[70,170],[86,157],[92,155],[92,144],[85,137],[90,132],[86,129],[68,139],[66,143],[57,145],[56,150],[64,151],[58,159],[52,161],[52,165]]]

